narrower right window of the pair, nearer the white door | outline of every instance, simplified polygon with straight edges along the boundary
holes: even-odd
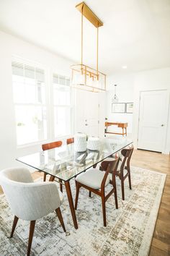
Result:
[[[55,137],[71,134],[70,79],[53,74],[54,131]]]

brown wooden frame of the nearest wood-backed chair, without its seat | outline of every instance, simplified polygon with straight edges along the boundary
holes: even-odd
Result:
[[[78,199],[79,199],[79,189],[81,187],[84,187],[85,189],[89,190],[89,192],[93,192],[96,195],[99,195],[99,197],[102,197],[102,211],[103,211],[103,223],[104,226],[107,226],[106,224],[106,207],[105,207],[105,202],[107,199],[114,193],[115,194],[115,205],[116,209],[118,209],[118,202],[117,202],[117,189],[116,189],[116,166],[117,162],[119,161],[119,158],[113,160],[113,161],[103,161],[101,166],[103,170],[105,171],[104,178],[102,179],[101,187],[100,189],[93,189],[91,187],[88,187],[84,184],[81,184],[79,182],[76,182],[76,200],[75,200],[75,210],[77,209],[77,204],[78,204]],[[95,170],[94,170],[95,171]],[[105,184],[107,181],[107,176],[108,174],[112,174],[112,181],[109,183],[112,184],[113,188],[111,191],[105,195]]]

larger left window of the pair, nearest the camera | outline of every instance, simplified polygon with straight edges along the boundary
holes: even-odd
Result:
[[[12,61],[17,145],[47,139],[45,71]]]

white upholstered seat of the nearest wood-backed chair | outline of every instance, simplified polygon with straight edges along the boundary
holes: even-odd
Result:
[[[76,182],[84,184],[87,187],[91,187],[93,189],[100,189],[102,180],[104,178],[105,171],[99,171],[97,168],[91,168],[84,172],[83,174],[79,174],[76,177]],[[105,187],[109,184],[109,176],[107,177],[107,181],[105,183]]]

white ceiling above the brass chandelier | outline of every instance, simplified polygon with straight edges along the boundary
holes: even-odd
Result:
[[[0,30],[80,63],[76,0],[0,0]],[[86,0],[104,22],[99,70],[106,74],[170,66],[170,0]],[[95,67],[97,31],[84,19],[84,64]],[[127,69],[122,69],[122,66]]]

